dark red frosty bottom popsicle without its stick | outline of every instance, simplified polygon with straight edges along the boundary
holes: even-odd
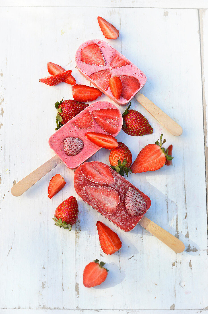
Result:
[[[134,229],[151,205],[148,196],[99,161],[85,162],[76,169],[74,188],[80,198],[124,231]],[[130,215],[135,208],[139,215]]]

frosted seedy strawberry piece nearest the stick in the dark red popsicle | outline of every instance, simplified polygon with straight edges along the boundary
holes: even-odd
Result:
[[[131,216],[140,216],[146,211],[147,204],[145,199],[134,187],[129,187],[126,192],[125,208]]]

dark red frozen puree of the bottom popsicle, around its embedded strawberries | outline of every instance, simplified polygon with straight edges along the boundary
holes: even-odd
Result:
[[[87,164],[96,165],[96,161],[88,162]],[[99,162],[100,163],[100,162]],[[84,163],[83,165],[85,165]],[[114,182],[109,184],[96,183],[87,178],[86,173],[82,174],[82,165],[80,165],[75,173],[74,173],[74,188],[80,198],[82,198],[86,203],[92,206],[95,210],[97,210],[104,217],[109,219],[112,223],[117,225],[123,231],[130,231],[134,229],[134,227],[138,224],[140,219],[144,216],[146,211],[150,208],[151,200],[148,196],[146,196],[143,192],[141,192],[137,187],[132,185],[129,181],[127,181],[123,176],[119,175],[116,171],[112,170],[108,165],[101,163],[103,167],[106,167],[106,171],[111,171],[111,175],[114,177]],[[88,167],[89,168],[89,167]],[[111,176],[112,177],[112,176]],[[90,177],[89,177],[90,178]],[[106,178],[105,178],[106,179]],[[96,180],[94,180],[96,181]],[[111,180],[112,181],[112,180]],[[86,190],[86,187],[88,189]],[[100,199],[97,201],[89,196],[89,187],[92,189],[95,188],[104,188],[109,189],[109,203],[111,197],[111,191],[119,193],[120,201],[118,203],[118,199],[116,199],[115,205],[116,208],[111,210],[112,214],[106,214],[103,212],[103,207],[100,206],[100,199],[102,198],[102,193],[100,193]],[[128,214],[125,207],[125,196],[129,190],[129,188],[133,188],[136,192],[140,193],[140,196],[144,199],[146,203],[146,208],[142,214],[139,216],[131,216]],[[112,190],[113,189],[113,190]],[[85,192],[87,191],[87,193]],[[117,195],[116,195],[117,197]],[[97,203],[97,204],[96,204]],[[109,205],[110,206],[110,205]]]

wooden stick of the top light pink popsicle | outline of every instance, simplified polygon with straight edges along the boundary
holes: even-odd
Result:
[[[175,136],[182,134],[182,127],[171,119],[165,112],[163,112],[158,106],[156,106],[151,100],[145,97],[143,94],[138,92],[134,98],[147,110],[151,113],[152,116],[157,119],[170,133]]]

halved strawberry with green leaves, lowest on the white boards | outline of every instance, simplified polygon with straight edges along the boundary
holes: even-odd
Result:
[[[103,266],[105,263],[96,259],[94,262],[87,264],[83,272],[83,284],[87,288],[95,287],[105,281],[108,269]]]

